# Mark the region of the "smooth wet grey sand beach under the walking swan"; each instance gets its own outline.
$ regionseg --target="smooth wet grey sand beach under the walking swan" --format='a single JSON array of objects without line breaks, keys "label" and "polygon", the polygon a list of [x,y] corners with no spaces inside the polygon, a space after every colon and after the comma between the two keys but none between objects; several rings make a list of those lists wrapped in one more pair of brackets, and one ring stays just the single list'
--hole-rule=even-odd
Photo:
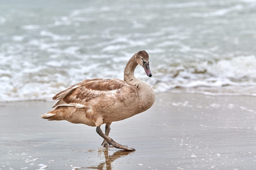
[{"label": "smooth wet grey sand beach under the walking swan", "polygon": [[54,102],[1,103],[0,170],[253,170],[255,103],[158,94],[146,112],[111,125],[109,136],[134,152],[101,148],[95,127],[40,119]]}]

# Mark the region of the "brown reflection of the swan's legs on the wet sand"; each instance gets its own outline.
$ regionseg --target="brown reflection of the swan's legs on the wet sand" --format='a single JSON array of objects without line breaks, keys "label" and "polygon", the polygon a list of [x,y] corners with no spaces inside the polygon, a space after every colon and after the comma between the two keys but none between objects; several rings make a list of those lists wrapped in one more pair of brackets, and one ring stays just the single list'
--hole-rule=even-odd
[{"label": "brown reflection of the swan's legs on the wet sand", "polygon": [[[99,151],[100,154],[104,152],[104,157],[106,159],[105,162],[100,163],[97,167],[87,167],[87,169],[97,169],[97,170],[112,170],[111,163],[120,157],[124,157],[129,155],[131,152],[134,151],[127,151],[127,150],[118,150],[117,152],[113,153],[112,155],[108,155],[108,149],[104,151]],[[105,166],[106,164],[106,166]],[[106,168],[104,168],[106,167]]]}]

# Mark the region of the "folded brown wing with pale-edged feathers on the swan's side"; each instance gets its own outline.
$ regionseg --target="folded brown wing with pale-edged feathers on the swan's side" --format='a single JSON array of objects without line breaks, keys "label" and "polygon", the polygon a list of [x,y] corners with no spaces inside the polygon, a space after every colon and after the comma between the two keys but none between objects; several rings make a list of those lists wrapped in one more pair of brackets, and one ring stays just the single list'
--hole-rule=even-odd
[{"label": "folded brown wing with pale-edged feathers on the swan's side", "polygon": [[59,100],[53,107],[75,106],[83,108],[86,102],[103,95],[115,96],[132,93],[136,87],[120,79],[87,79],[56,94],[52,99]]}]

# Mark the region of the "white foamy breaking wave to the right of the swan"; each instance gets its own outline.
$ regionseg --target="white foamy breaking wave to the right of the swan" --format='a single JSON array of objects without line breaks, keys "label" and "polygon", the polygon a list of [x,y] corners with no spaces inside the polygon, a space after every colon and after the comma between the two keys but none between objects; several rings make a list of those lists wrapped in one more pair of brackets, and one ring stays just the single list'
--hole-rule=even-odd
[{"label": "white foamy breaking wave to the right of the swan", "polygon": [[255,55],[162,65],[157,68],[154,87],[157,92],[255,95],[255,67]]}]

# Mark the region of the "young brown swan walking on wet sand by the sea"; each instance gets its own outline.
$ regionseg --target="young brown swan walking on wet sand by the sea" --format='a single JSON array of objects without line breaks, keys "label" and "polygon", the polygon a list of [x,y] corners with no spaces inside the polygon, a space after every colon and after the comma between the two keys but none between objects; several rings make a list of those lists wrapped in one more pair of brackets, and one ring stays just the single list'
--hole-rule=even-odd
[{"label": "young brown swan walking on wet sand by the sea", "polygon": [[[70,88],[56,94],[52,99],[58,102],[54,110],[41,115],[48,120],[67,120],[74,124],[96,126],[97,133],[103,137],[103,147],[111,145],[123,150],[135,150],[115,142],[108,137],[112,121],[120,121],[144,112],[155,102],[155,92],[146,82],[134,76],[134,70],[139,64],[149,77],[148,53],[135,53],[124,69],[124,80],[85,79]],[[106,124],[105,134],[101,125]]]}]

